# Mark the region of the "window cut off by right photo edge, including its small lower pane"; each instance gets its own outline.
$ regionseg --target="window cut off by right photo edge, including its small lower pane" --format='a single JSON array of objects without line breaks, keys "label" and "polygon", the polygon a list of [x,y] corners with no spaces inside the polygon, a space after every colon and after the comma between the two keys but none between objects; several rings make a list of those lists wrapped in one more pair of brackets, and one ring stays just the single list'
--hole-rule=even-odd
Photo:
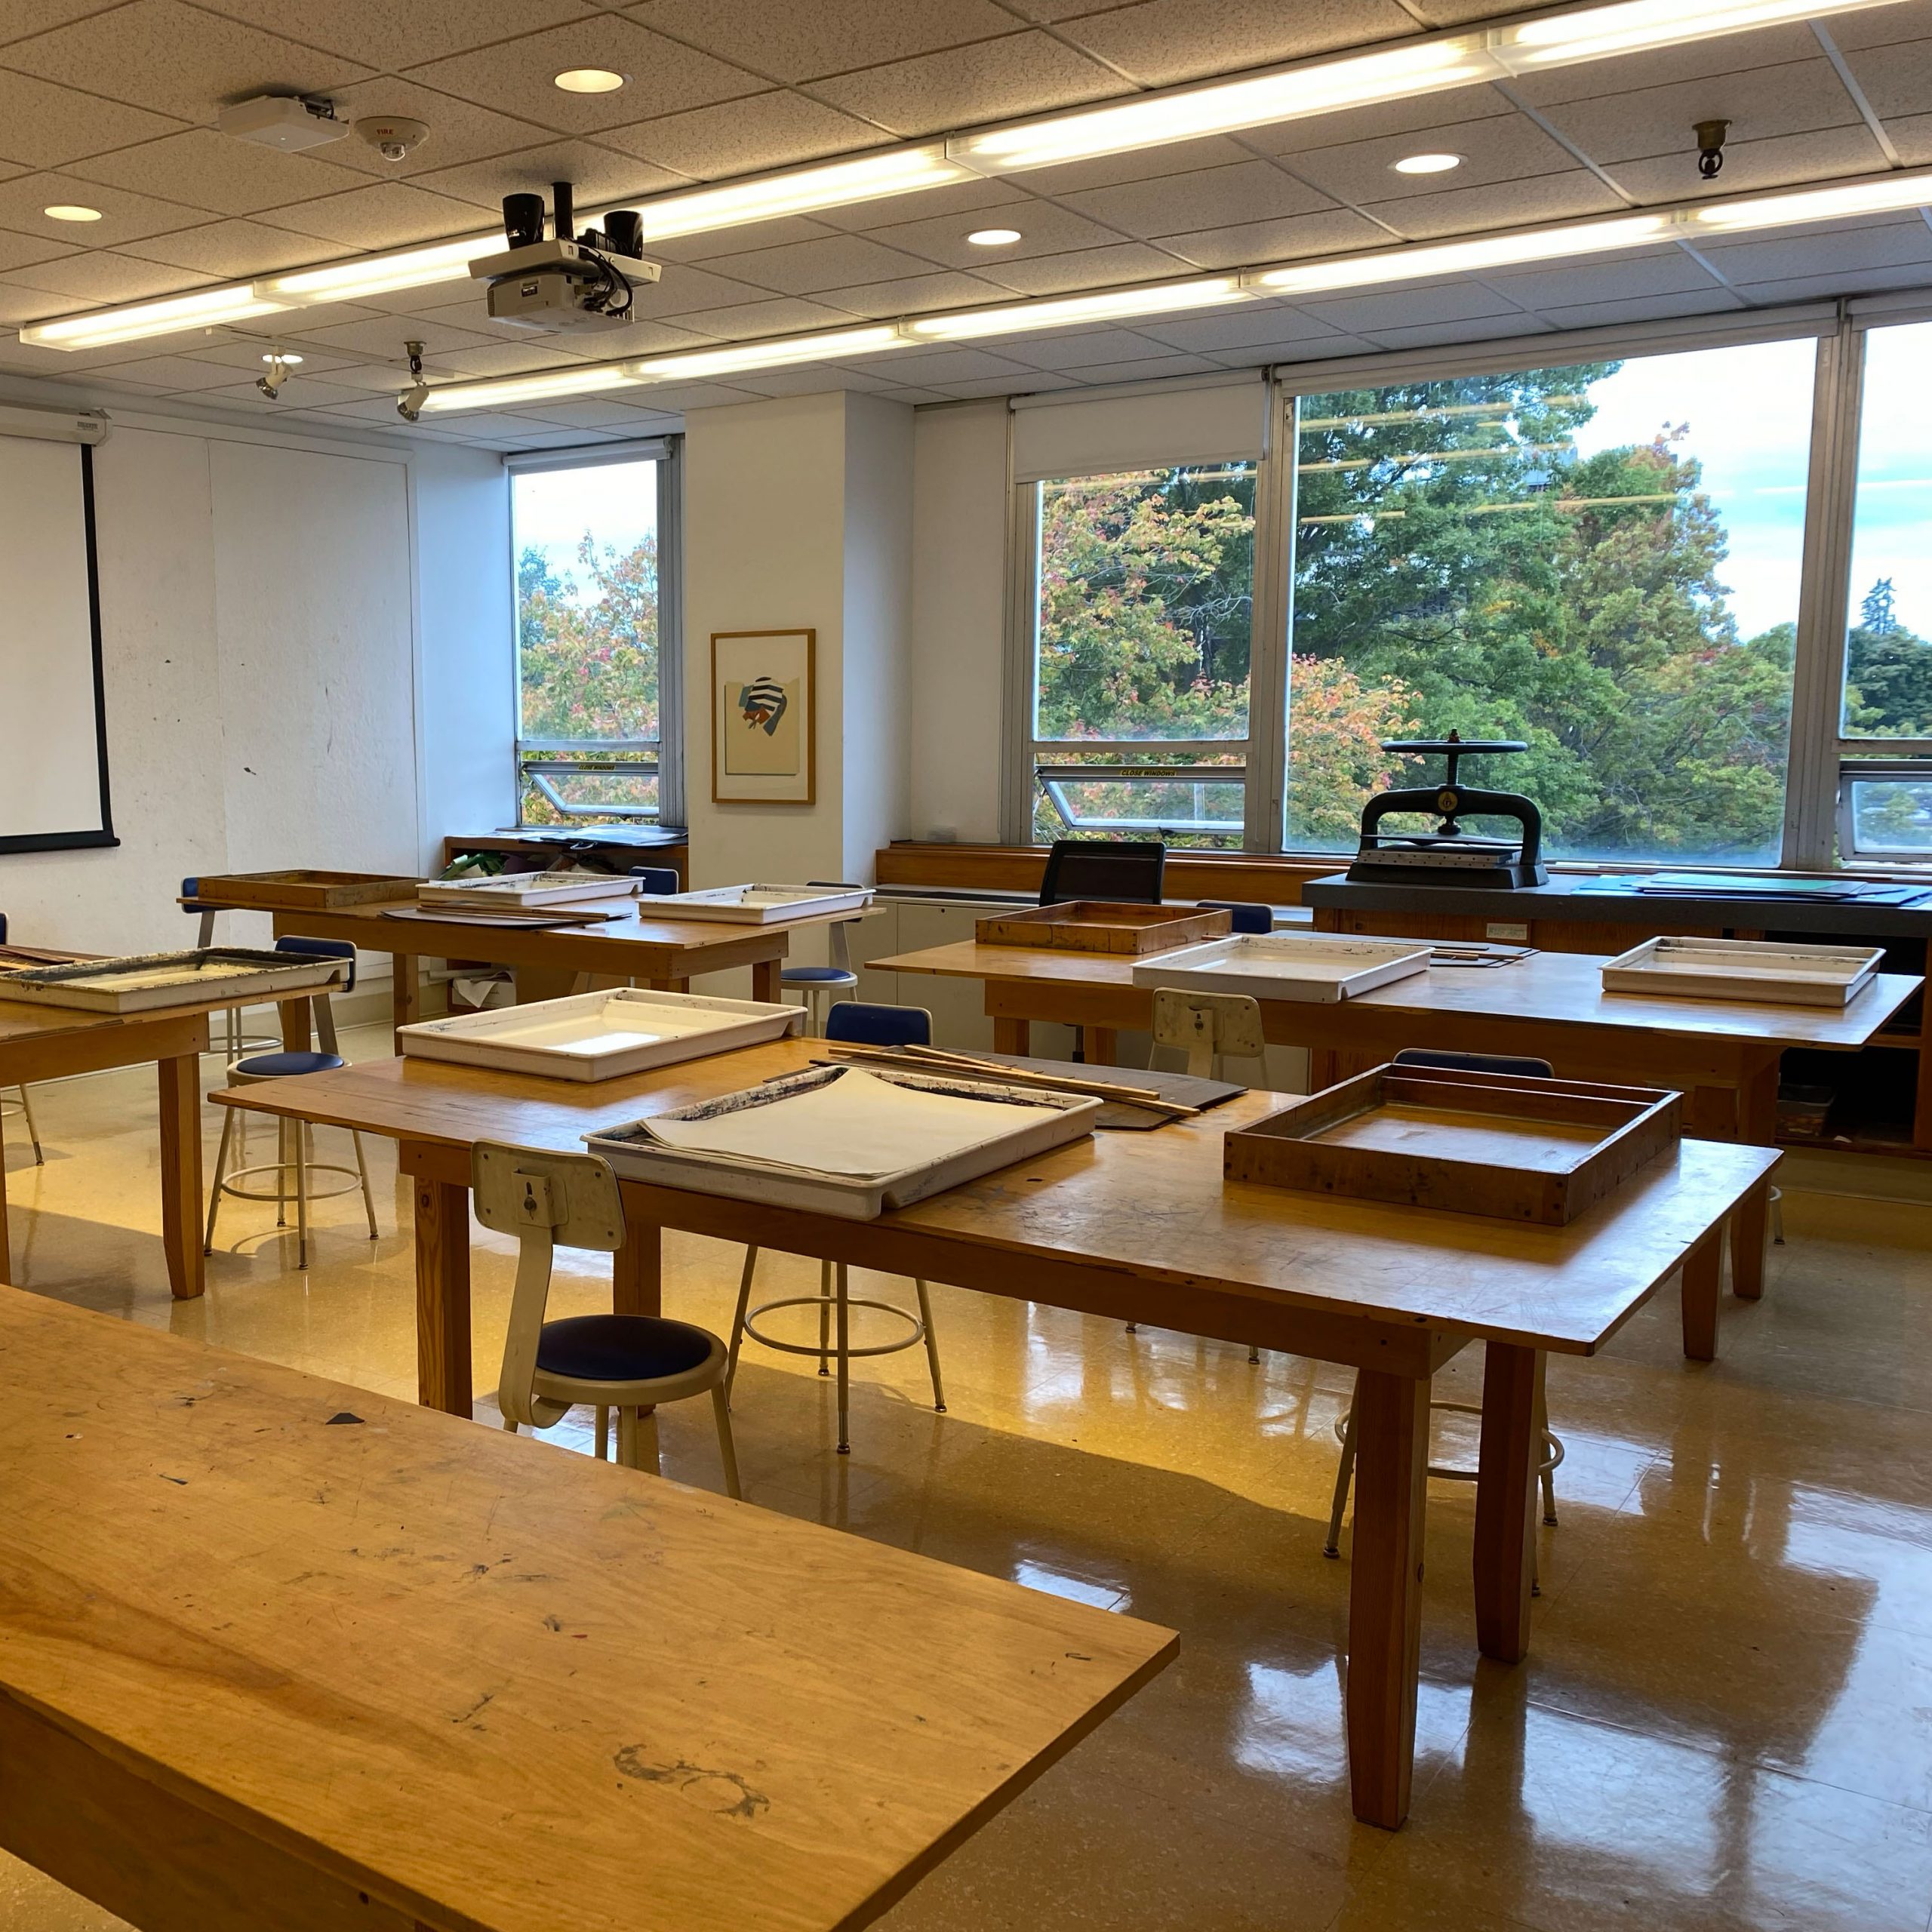
[{"label": "window cut off by right photo edge, including its small lower pane", "polygon": [[[1864,338],[1839,705],[1839,856],[1932,858],[1932,323]],[[1917,753],[1917,755],[1897,755]]]}]

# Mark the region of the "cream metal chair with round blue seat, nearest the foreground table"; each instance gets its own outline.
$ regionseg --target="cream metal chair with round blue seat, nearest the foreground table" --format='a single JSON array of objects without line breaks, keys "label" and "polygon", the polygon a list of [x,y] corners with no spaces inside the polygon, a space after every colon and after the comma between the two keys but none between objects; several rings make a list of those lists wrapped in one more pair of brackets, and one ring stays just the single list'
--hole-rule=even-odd
[{"label": "cream metal chair with round blue seat, nearest the foreground table", "polygon": [[616,1175],[595,1153],[549,1153],[481,1140],[469,1155],[477,1219],[516,1236],[516,1291],[502,1347],[502,1426],[554,1428],[578,1405],[597,1410],[597,1457],[611,1445],[626,1468],[657,1468],[657,1405],[711,1395],[724,1490],[738,1495],[724,1345],[709,1329],[659,1316],[570,1316],[545,1321],[558,1248],[624,1246]]}]

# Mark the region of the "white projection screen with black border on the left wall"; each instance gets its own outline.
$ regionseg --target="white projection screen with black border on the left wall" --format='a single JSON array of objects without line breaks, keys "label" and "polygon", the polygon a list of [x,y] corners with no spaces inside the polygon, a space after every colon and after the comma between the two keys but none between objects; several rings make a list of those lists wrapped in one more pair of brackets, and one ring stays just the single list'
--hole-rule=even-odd
[{"label": "white projection screen with black border on the left wall", "polygon": [[0,852],[118,844],[93,454],[0,437]]}]

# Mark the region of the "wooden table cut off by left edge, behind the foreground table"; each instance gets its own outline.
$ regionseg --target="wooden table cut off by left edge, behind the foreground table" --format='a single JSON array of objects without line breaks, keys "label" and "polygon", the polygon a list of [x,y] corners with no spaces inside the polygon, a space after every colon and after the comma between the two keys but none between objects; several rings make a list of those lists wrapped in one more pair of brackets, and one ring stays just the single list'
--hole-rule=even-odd
[{"label": "wooden table cut off by left edge, behind the foreground table", "polygon": [[[270,993],[292,1039],[307,1036],[313,989]],[[160,1113],[160,1240],[168,1287],[180,1298],[207,1285],[201,1256],[201,1055],[209,1051],[209,1014],[228,1003],[168,1007],[160,1012],[81,1012],[0,1001],[0,1086],[64,1080],[110,1066],[155,1063]],[[6,1175],[0,1171],[0,1281],[12,1281]]]}]

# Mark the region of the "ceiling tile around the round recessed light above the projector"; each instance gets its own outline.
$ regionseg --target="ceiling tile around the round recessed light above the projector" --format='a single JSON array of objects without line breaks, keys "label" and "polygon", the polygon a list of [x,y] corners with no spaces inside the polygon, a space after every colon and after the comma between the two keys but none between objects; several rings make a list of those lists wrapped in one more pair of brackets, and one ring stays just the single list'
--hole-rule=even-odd
[{"label": "ceiling tile around the round recessed light above the projector", "polygon": [[[566,68],[609,68],[630,79],[616,93],[568,95],[553,85],[553,75]],[[678,46],[614,14],[433,60],[412,68],[410,79],[570,133],[624,128],[763,89],[744,68]]]}]

